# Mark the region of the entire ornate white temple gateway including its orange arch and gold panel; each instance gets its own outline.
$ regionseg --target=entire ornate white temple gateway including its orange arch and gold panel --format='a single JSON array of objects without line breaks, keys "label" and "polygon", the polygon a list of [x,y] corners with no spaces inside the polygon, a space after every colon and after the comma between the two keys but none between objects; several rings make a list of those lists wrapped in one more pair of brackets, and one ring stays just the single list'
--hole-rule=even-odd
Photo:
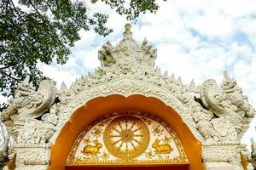
[{"label": "entire ornate white temple gateway including its orange arch and gold panel", "polygon": [[156,55],[127,24],[70,88],[44,80],[35,90],[27,77],[2,117],[16,169],[249,170],[241,137],[255,110],[235,79],[185,85],[154,67]]}]

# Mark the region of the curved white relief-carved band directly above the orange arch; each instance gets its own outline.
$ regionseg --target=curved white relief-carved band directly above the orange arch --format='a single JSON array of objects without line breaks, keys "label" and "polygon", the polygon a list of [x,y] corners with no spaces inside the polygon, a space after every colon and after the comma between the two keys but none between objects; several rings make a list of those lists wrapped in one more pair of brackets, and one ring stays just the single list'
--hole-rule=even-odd
[{"label": "curved white relief-carved band directly above the orange arch", "polygon": [[[61,111],[57,130],[51,140],[55,141],[57,135],[61,131],[61,127],[63,127],[69,117],[72,116],[73,112],[79,107],[86,104],[88,101],[90,101],[90,99],[113,94],[124,95],[125,97],[141,94],[143,96],[160,99],[166,105],[177,111],[178,115],[182,117],[183,122],[187,124],[191,132],[198,140],[201,142],[205,140],[195,129],[195,122],[193,121],[192,110],[190,107],[184,105],[180,99],[170,93],[170,91],[166,90],[166,88],[161,88],[159,86],[148,84],[147,82],[138,81],[129,77],[120,78],[119,80],[114,80],[113,82],[100,84],[96,87],[91,87],[89,89],[80,91],[79,94],[76,95],[76,98],[70,101],[70,103],[68,103],[68,105],[66,105]],[[191,98],[190,102],[195,103],[193,98]]]}]

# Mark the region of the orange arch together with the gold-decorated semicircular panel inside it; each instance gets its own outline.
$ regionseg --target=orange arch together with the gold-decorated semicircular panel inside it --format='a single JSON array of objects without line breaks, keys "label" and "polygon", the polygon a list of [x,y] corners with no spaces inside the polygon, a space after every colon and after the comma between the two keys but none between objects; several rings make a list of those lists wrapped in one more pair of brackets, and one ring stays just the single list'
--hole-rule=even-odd
[{"label": "orange arch together with the gold-decorated semicircular panel inside it", "polygon": [[51,157],[50,169],[202,169],[201,144],[182,119],[142,95],[92,99],[63,127]]}]

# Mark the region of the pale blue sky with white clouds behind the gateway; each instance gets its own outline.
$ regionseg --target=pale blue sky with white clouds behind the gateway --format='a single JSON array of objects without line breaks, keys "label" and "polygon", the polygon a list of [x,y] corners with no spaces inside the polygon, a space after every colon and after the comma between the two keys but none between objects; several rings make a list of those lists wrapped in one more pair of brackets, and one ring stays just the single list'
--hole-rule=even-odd
[{"label": "pale blue sky with white clouds behind the gateway", "polygon": [[[256,1],[255,0],[167,0],[158,1],[156,14],[143,14],[132,23],[133,37],[142,42],[147,37],[158,49],[155,65],[181,77],[184,83],[196,84],[214,78],[218,83],[228,71],[249,103],[256,108]],[[72,48],[67,64],[40,64],[44,76],[70,86],[76,78],[100,66],[97,51],[106,41],[119,42],[127,20],[105,4],[88,4],[91,13],[109,14],[108,37],[94,31],[80,31],[81,39]],[[256,136],[256,119],[242,139]]]}]

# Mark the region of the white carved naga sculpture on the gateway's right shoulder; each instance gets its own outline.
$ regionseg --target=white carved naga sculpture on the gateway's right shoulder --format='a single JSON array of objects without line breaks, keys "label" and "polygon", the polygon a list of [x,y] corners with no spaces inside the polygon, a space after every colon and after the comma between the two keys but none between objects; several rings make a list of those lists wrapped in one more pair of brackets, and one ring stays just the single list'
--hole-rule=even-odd
[{"label": "white carved naga sculpture on the gateway's right shoulder", "polygon": [[248,104],[247,96],[242,94],[234,79],[224,71],[224,81],[220,88],[215,80],[210,79],[201,86],[202,104],[218,117],[227,117],[241,138],[247,124],[253,118],[255,111]]}]

